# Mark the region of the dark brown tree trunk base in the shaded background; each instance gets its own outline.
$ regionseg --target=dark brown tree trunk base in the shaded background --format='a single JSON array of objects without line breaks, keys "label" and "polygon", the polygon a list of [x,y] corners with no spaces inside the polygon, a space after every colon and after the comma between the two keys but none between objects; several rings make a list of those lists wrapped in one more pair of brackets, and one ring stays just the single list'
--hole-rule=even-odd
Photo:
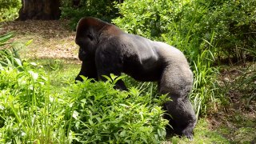
[{"label": "dark brown tree trunk base in the shaded background", "polygon": [[52,20],[61,15],[60,0],[22,0],[18,20],[27,19]]}]

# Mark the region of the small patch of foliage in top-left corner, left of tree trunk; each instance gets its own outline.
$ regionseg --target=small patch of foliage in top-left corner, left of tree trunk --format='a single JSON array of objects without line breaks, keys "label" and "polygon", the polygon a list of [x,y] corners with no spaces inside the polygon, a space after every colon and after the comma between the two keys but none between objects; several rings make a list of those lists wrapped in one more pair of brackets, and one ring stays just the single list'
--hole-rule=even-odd
[{"label": "small patch of foliage in top-left corner, left of tree trunk", "polygon": [[0,0],[0,22],[14,20],[22,7],[21,0]]}]

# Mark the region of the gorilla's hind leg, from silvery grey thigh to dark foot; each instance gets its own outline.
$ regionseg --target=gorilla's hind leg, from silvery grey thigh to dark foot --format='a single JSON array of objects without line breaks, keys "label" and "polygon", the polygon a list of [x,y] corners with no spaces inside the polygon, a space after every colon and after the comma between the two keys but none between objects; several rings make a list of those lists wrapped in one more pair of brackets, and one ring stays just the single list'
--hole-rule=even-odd
[{"label": "gorilla's hind leg, from silvery grey thigh to dark foot", "polygon": [[161,94],[168,94],[171,101],[164,103],[164,110],[170,114],[168,119],[174,134],[193,138],[197,118],[187,98],[193,84],[193,74],[188,66],[166,66],[159,88]]}]

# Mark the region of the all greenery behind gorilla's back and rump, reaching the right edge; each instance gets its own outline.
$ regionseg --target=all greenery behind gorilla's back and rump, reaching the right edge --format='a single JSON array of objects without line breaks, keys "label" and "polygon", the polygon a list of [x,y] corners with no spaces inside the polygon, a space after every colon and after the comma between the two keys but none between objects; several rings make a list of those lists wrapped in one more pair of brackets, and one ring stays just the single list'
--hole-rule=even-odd
[{"label": "all greenery behind gorilla's back and rump, reaching the right edge", "polygon": [[255,56],[256,1],[126,0],[113,22],[132,34],[167,42],[186,54],[194,72],[190,98],[197,114],[225,103],[216,81],[222,58]]}]

